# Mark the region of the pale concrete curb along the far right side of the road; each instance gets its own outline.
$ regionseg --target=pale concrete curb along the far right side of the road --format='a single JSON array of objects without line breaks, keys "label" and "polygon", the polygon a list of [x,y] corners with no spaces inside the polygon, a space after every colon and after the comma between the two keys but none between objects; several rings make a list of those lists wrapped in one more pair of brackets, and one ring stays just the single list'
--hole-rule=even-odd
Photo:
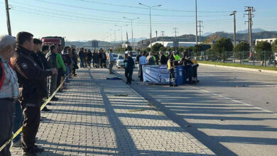
[{"label": "pale concrete curb along the far right side of the road", "polygon": [[205,64],[205,63],[199,63],[199,65],[208,66],[208,67],[222,67],[222,68],[227,68],[227,69],[239,69],[239,70],[256,72],[256,73],[264,72],[264,73],[268,73],[268,74],[277,74],[277,71],[265,70],[265,69],[251,69],[251,68],[245,68],[245,67],[230,67],[230,66],[224,66],[224,65],[210,65],[210,64]]}]

